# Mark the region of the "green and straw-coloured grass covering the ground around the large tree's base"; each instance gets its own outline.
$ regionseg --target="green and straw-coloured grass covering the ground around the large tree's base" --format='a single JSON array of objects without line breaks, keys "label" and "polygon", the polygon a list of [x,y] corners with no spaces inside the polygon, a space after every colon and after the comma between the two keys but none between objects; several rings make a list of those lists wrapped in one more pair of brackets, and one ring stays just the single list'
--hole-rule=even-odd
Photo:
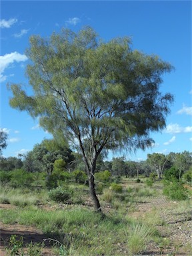
[{"label": "green and straw-coloured grass covering the ground around the large tree's base", "polygon": [[[129,187],[128,187],[129,186]],[[3,223],[33,225],[52,238],[55,255],[134,255],[145,251],[149,241],[153,239],[156,244],[165,241],[161,239],[155,229],[156,225],[164,225],[158,207],[153,207],[143,215],[135,215],[138,203],[149,203],[157,193],[156,184],[153,188],[143,183],[127,183],[122,193],[117,193],[109,188],[103,189],[99,195],[101,205],[105,205],[106,217],[93,212],[90,207],[81,203],[89,200],[89,188],[85,185],[69,185],[74,190],[71,205],[54,202],[54,211],[49,210],[49,201],[46,190],[25,191],[20,189],[1,188],[0,203],[8,202],[17,205],[11,209],[0,209],[0,219]],[[161,191],[160,191],[161,192]],[[43,203],[46,209],[40,209]],[[181,201],[175,205],[176,213],[191,213],[191,203]],[[133,217],[130,217],[133,215]],[[155,216],[155,217],[154,217]],[[55,240],[55,241],[53,241]],[[156,242],[157,241],[157,242]],[[168,240],[166,240],[167,242]],[[157,245],[158,246],[158,245]],[[190,251],[190,248],[186,248]],[[81,253],[79,253],[81,252]],[[190,251],[191,252],[191,251]]]}]

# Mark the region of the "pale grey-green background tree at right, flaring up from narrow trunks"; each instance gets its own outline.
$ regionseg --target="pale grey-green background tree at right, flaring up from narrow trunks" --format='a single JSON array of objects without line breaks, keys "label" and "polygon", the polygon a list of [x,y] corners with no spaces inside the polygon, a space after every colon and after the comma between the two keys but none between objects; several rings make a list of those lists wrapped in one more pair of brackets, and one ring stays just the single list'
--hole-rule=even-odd
[{"label": "pale grey-green background tree at right, flaring up from narrow trunks", "polygon": [[147,155],[147,162],[149,165],[151,165],[151,168],[155,169],[157,172],[158,179],[162,178],[165,165],[168,161],[169,159],[161,153],[153,153]]}]

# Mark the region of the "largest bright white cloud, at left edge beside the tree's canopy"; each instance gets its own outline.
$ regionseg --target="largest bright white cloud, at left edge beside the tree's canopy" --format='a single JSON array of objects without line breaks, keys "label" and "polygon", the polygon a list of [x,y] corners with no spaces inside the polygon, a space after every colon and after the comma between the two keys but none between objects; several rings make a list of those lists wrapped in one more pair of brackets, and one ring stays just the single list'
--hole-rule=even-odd
[{"label": "largest bright white cloud, at left edge beside the tree's canopy", "polygon": [[17,53],[17,51],[15,51],[14,53],[7,53],[3,56],[0,56],[0,82],[3,82],[7,79],[7,76],[3,75],[3,72],[15,61],[27,61],[27,56],[21,53]]}]

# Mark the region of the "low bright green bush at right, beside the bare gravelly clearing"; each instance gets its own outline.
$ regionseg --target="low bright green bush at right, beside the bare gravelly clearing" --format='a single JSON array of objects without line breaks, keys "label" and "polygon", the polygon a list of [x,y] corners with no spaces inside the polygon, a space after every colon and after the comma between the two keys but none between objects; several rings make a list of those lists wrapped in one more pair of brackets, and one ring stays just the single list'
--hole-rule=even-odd
[{"label": "low bright green bush at right, beside the bare gravelly clearing", "polygon": [[165,187],[163,189],[163,194],[167,195],[172,200],[185,200],[187,199],[187,191],[183,187],[182,183],[177,181],[165,181]]}]

